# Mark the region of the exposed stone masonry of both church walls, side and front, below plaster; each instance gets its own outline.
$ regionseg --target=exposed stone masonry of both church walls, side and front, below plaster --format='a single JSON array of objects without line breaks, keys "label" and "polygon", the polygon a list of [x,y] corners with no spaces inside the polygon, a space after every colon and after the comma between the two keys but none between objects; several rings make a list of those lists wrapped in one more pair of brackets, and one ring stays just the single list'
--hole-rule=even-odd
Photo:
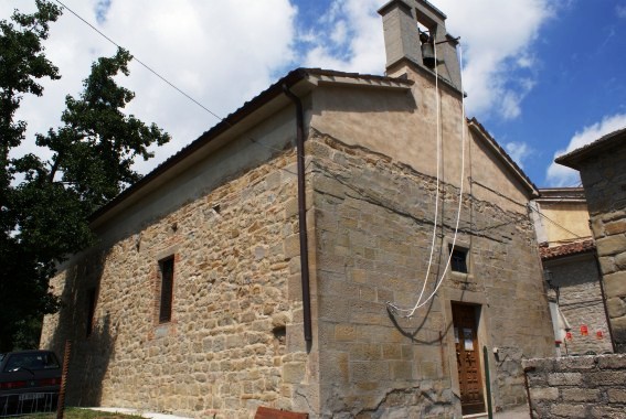
[{"label": "exposed stone masonry of both church walls, side and front, below plaster", "polygon": [[[526,401],[520,359],[548,356],[553,342],[523,203],[505,211],[468,184],[457,244],[469,250],[470,272],[444,273],[459,191],[442,183],[426,296],[444,282],[405,319],[386,303],[410,307],[420,293],[436,180],[315,130],[306,155],[311,347],[289,149],[64,267],[54,287],[66,305],[46,319],[42,345],[61,353],[75,342],[71,405],[199,418],[247,418],[261,405],[311,418],[460,415],[453,301],[477,308],[495,408]],[[171,256],[173,314],[160,323],[159,261]]]}]

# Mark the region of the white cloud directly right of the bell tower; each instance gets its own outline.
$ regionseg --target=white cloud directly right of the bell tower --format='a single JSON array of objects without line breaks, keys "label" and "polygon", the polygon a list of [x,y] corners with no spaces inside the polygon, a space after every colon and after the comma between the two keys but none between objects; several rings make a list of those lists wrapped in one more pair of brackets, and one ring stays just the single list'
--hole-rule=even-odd
[{"label": "white cloud directly right of the bell tower", "polygon": [[526,71],[524,78],[535,77],[531,47],[541,26],[553,15],[553,3],[437,0],[437,7],[448,17],[448,32],[461,36],[464,89],[471,114],[505,119],[520,115],[520,103],[534,83],[520,85],[516,72]]}]

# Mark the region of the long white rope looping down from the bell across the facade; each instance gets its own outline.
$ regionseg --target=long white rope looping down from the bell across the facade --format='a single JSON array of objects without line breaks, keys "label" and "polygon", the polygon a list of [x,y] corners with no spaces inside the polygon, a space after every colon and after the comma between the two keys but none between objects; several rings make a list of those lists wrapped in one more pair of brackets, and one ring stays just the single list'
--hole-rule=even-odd
[{"label": "long white rope looping down from the bell across the facade", "polygon": [[[463,47],[460,46],[459,43],[459,67],[463,68]],[[435,75],[436,73],[436,58],[437,57],[437,53],[436,53],[436,47],[435,47]],[[438,78],[438,77],[437,77]],[[435,82],[435,86],[437,86],[437,83]],[[465,184],[465,95],[463,93],[463,78],[460,82],[460,108],[461,108],[461,123],[460,123],[460,185],[459,185],[459,192],[458,192],[458,211],[457,211],[457,216],[456,216],[456,225],[455,225],[455,229],[454,229],[454,236],[453,236],[453,244],[452,244],[452,248],[454,249],[455,245],[456,245],[456,239],[458,236],[458,225],[460,223],[460,211],[461,211],[461,206],[463,206],[463,189],[464,189],[464,184]],[[438,95],[437,95],[437,99],[438,99]],[[437,119],[438,119],[439,115],[437,112]],[[437,132],[438,132],[438,121],[437,121]],[[437,143],[437,192],[438,192],[438,168],[439,168],[439,162],[438,162],[438,143]],[[438,196],[438,194],[437,194]],[[435,205],[435,207],[437,207],[437,205]],[[435,228],[436,228],[436,215],[435,215]],[[434,237],[433,237],[433,243],[434,243]],[[434,245],[433,245],[434,248]],[[433,256],[433,250],[431,249],[431,257]],[[413,307],[413,309],[409,310],[409,309],[400,309],[399,307],[396,307],[395,304],[392,303],[388,303],[388,307],[390,307],[392,310],[394,310],[397,313],[402,313],[405,312],[407,314],[404,314],[404,318],[411,319],[413,316],[413,314],[415,314],[415,311],[417,311],[417,309],[426,305],[426,303],[432,300],[435,294],[437,293],[437,291],[439,290],[439,287],[442,286],[442,283],[444,282],[444,278],[449,269],[449,265],[450,265],[450,260],[452,260],[452,256],[453,253],[449,251],[447,261],[446,261],[446,266],[444,268],[444,272],[442,273],[441,278],[437,280],[437,283],[435,286],[435,290],[428,296],[428,298],[426,298],[426,300],[422,301],[422,297],[424,293],[424,289],[426,288],[426,282],[424,281],[424,286],[422,287],[422,292],[420,293],[420,298],[417,299],[417,302],[415,303],[415,305]],[[431,269],[431,264],[428,262],[428,271]],[[426,272],[426,280],[427,280],[427,275],[428,271]]]}]

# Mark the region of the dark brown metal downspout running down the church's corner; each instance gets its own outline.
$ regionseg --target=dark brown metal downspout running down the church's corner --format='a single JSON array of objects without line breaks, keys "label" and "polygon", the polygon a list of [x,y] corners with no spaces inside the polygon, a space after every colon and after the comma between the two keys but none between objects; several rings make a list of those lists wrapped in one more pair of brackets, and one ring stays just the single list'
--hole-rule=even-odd
[{"label": "dark brown metal downspout running down the church's corner", "polygon": [[303,103],[287,85],[283,92],[296,105],[296,161],[298,166],[298,227],[300,233],[300,272],[303,283],[303,322],[305,341],[310,345],[311,333],[311,296],[309,288],[309,246],[307,237],[307,202],[305,185],[305,116]]}]

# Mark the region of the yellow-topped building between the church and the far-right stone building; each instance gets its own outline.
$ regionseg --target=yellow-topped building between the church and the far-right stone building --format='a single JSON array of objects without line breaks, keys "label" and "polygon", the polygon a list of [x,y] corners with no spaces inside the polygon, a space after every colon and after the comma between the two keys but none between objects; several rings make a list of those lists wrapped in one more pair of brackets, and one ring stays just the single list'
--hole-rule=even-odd
[{"label": "yellow-topped building between the church and the far-right stone building", "polygon": [[531,203],[556,355],[612,352],[606,304],[582,187],[540,189]]}]

